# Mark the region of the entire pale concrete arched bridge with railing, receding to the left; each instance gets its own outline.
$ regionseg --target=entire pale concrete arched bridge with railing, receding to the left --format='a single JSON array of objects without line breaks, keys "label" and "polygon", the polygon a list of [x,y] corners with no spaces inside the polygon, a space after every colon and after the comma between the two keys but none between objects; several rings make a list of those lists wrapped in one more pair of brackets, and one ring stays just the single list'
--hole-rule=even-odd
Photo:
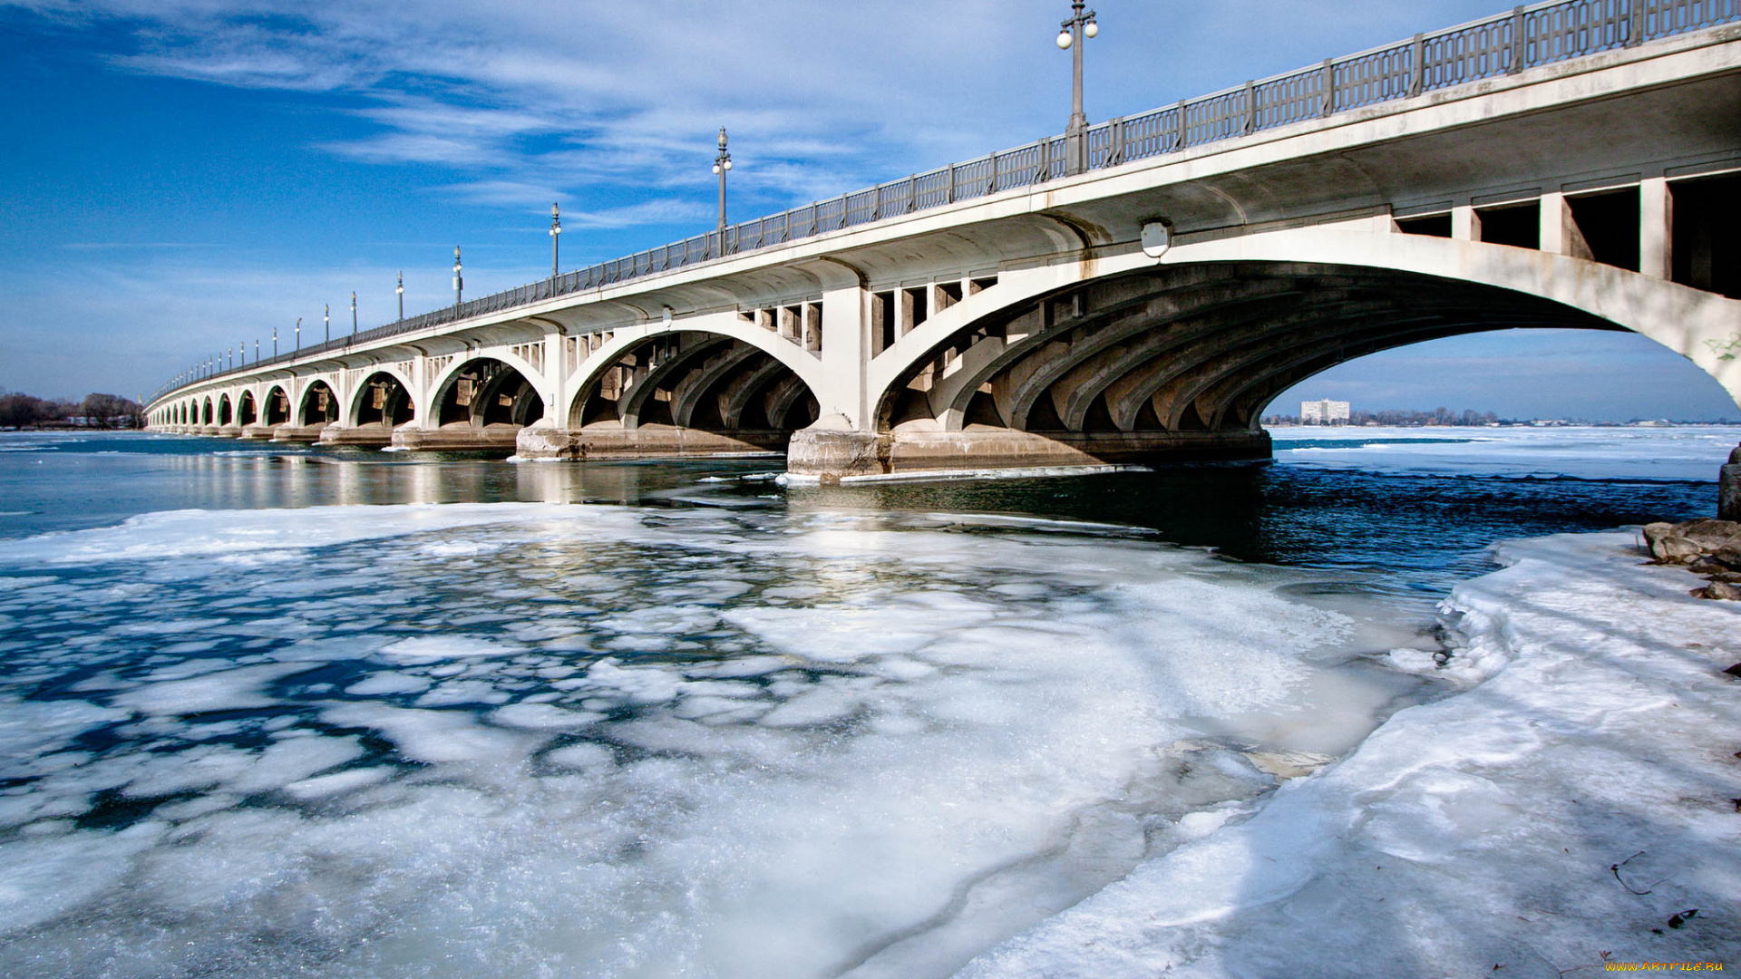
[{"label": "entire pale concrete arched bridge with railing, receding to the left", "polygon": [[1039,141],[179,383],[150,423],[820,477],[1250,458],[1299,380],[1509,327],[1637,331],[1741,402],[1736,21],[1532,7],[1102,124],[1081,172]]}]

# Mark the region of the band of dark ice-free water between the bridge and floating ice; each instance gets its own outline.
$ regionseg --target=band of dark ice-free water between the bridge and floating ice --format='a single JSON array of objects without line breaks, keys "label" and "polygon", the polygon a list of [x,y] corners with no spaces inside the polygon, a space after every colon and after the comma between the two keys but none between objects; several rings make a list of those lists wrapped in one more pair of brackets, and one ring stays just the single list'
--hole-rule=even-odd
[{"label": "band of dark ice-free water between the bridge and floating ice", "polygon": [[[1468,439],[1405,435],[1408,444]],[[1713,439],[1715,476],[1724,437]],[[963,483],[794,486],[780,456],[517,465],[500,456],[378,453],[136,434],[0,434],[0,540],[158,510],[353,503],[564,502],[1020,514],[1153,530],[1229,557],[1395,575],[1443,592],[1496,540],[1600,531],[1715,510],[1713,479],[1382,470],[1398,439],[1278,437],[1278,449],[1372,444],[1381,470],[1287,462]],[[31,451],[33,448],[47,451]],[[1288,455],[1283,451],[1283,455]],[[1598,453],[1600,455],[1600,453]],[[1583,467],[1588,469],[1588,463]],[[1600,470],[1600,462],[1596,463]],[[750,476],[750,481],[740,477]]]}]

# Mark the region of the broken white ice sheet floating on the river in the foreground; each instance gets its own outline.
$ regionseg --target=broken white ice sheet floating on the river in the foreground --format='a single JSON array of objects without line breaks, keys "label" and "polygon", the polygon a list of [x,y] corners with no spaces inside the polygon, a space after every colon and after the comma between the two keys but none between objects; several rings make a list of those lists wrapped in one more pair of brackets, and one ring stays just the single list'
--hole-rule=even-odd
[{"label": "broken white ice sheet floating on the river in the foreground", "polygon": [[1321,761],[1257,732],[1361,732],[1400,690],[1327,665],[1360,650],[1290,598],[1313,575],[1057,521],[343,507],[23,544],[7,976],[947,976]]}]

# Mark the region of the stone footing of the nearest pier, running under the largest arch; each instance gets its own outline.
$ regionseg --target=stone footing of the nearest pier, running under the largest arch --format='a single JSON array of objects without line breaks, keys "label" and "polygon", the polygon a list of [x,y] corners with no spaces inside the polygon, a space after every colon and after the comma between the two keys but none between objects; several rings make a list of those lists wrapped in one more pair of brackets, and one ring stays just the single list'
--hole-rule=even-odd
[{"label": "stone footing of the nearest pier, running under the largest arch", "polygon": [[[935,425],[930,423],[930,425]],[[1018,432],[968,425],[944,432],[924,423],[893,432],[804,429],[792,434],[787,472],[836,481],[853,476],[1149,465],[1269,458],[1269,432]]]}]

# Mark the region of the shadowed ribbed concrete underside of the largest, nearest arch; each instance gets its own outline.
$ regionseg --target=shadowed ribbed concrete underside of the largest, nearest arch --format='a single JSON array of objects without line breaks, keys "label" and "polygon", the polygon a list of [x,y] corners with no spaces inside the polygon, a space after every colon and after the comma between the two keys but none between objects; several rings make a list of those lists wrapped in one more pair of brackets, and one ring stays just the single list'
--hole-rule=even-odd
[{"label": "shadowed ribbed concrete underside of the largest, nearest arch", "polygon": [[1170,265],[1001,310],[928,350],[877,430],[1257,432],[1266,404],[1379,350],[1513,327],[1623,329],[1494,286],[1313,263]]}]

